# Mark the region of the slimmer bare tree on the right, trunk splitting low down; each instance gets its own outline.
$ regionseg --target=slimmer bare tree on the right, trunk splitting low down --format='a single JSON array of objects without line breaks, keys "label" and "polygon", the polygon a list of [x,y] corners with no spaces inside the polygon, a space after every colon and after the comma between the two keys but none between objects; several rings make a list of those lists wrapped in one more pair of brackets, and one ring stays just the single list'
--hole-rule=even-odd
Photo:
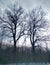
[{"label": "slimmer bare tree on the right, trunk splitting low down", "polygon": [[43,29],[46,25],[46,20],[45,20],[45,12],[43,9],[40,8],[35,8],[31,11],[29,14],[29,30],[28,33],[30,35],[30,42],[33,48],[33,51],[35,51],[35,44],[36,42],[40,39],[39,32],[41,29]]}]

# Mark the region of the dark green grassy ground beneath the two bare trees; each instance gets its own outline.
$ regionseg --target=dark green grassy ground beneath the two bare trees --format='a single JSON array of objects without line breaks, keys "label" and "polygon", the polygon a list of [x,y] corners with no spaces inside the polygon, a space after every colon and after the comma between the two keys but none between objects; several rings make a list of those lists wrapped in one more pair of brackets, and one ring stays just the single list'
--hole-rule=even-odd
[{"label": "dark green grassy ground beneath the two bare trees", "polygon": [[23,48],[16,48],[15,52],[13,51],[13,47],[5,50],[0,49],[0,64],[23,62],[50,62],[50,53],[40,53],[40,51],[33,53],[30,48],[26,48],[25,50]]}]

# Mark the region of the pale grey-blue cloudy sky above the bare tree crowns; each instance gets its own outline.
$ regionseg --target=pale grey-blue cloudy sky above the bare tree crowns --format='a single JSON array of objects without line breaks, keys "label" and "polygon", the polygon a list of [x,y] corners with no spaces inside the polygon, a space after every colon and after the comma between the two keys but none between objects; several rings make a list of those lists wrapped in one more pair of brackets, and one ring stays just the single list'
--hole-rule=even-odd
[{"label": "pale grey-blue cloudy sky above the bare tree crowns", "polygon": [[[0,8],[5,8],[14,1],[15,0],[0,0]],[[47,13],[47,18],[50,20],[50,0],[18,0],[17,2],[27,10],[31,10],[37,6],[42,6]]]}]

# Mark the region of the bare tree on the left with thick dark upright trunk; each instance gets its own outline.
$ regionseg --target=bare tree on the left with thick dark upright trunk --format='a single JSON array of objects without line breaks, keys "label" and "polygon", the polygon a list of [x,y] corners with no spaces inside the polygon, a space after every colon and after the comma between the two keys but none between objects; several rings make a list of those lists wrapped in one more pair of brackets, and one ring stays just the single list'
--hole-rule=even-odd
[{"label": "bare tree on the left with thick dark upright trunk", "polygon": [[21,36],[24,35],[25,25],[23,25],[23,8],[14,4],[11,8],[6,9],[5,15],[0,16],[2,27],[5,28],[5,36],[13,38],[14,49],[16,49],[16,43]]}]

